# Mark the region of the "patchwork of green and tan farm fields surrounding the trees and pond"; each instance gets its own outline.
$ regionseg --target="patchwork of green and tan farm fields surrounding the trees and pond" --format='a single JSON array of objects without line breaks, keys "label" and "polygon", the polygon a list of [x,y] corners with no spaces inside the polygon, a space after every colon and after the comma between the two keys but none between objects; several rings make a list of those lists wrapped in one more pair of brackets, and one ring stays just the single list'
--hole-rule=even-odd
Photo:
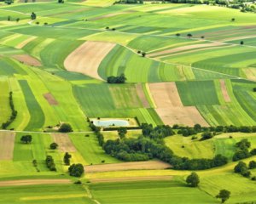
[{"label": "patchwork of green and tan farm fields surrounding the trees and pond", "polygon": [[[163,139],[177,156],[228,158],[222,167],[196,171],[199,188],[189,188],[191,171],[107,155],[86,121],[256,126],[256,15],[189,3],[113,3],[0,2],[0,125],[12,116],[9,92],[18,112],[0,131],[0,203],[205,204],[219,203],[222,189],[231,192],[227,203],[256,202],[255,181],[234,173],[232,161],[241,139],[256,148],[255,133]],[[122,73],[125,84],[106,82]],[[63,122],[73,133],[55,133]],[[32,143],[22,144],[27,134]],[[119,139],[116,130],[102,134],[105,142]],[[125,137],[141,135],[129,130]],[[53,142],[56,150],[49,148]],[[66,152],[71,164],[83,164],[81,178],[68,175]],[[46,167],[46,156],[56,172]],[[252,160],[256,156],[242,161]],[[73,184],[78,180],[82,184]]]}]

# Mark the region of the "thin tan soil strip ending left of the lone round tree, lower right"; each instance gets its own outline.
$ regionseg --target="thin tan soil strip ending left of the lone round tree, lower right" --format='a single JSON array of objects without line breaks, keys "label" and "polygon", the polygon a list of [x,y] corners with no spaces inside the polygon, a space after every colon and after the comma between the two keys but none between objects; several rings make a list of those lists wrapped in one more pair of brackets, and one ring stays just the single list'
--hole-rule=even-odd
[{"label": "thin tan soil strip ending left of the lone round tree, lower right", "polygon": [[114,183],[129,181],[147,181],[147,180],[171,180],[172,176],[143,176],[143,177],[122,177],[122,178],[92,178],[91,183]]}]

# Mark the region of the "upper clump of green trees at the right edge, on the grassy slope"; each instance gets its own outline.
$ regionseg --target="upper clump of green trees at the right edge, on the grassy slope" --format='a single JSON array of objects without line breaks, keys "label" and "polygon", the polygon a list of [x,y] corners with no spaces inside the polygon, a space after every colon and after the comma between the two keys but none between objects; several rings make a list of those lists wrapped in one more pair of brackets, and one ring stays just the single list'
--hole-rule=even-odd
[{"label": "upper clump of green trees at the right edge, on the grassy slope", "polygon": [[248,141],[248,139],[241,139],[240,142],[236,143],[236,152],[232,160],[238,161],[256,155],[256,149],[249,151],[248,149],[250,147],[251,143]]}]

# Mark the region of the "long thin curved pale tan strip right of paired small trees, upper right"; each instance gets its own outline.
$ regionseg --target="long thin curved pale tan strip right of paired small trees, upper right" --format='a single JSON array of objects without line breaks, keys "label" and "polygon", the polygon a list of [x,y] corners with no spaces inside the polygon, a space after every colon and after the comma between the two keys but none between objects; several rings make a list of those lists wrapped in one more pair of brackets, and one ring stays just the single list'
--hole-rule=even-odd
[{"label": "long thin curved pale tan strip right of paired small trees, upper right", "polygon": [[220,46],[220,45],[224,45],[224,42],[211,42],[211,43],[204,43],[204,44],[186,45],[183,47],[166,49],[166,50],[156,52],[153,54],[148,54],[148,57],[156,57],[156,56],[165,55],[165,54],[173,54],[173,53],[177,53],[177,52],[182,52],[182,51],[186,51],[189,49],[209,48],[209,47],[215,47],[215,46]]}]

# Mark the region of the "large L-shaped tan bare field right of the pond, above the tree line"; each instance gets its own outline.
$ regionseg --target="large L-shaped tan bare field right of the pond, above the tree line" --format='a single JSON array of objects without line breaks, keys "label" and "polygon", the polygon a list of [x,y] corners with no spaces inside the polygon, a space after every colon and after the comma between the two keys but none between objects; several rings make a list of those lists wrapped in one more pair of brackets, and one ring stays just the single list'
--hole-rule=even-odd
[{"label": "large L-shaped tan bare field right of the pond, above the tree line", "polygon": [[155,111],[166,125],[209,126],[195,106],[183,106],[175,82],[151,83],[149,88],[157,106]]}]

